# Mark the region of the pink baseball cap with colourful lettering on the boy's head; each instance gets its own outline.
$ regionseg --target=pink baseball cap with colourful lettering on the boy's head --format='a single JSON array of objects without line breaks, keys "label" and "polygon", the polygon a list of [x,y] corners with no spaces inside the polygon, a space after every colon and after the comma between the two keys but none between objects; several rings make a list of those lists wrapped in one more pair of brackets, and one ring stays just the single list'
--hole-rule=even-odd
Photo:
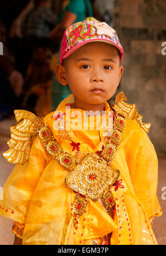
[{"label": "pink baseball cap with colourful lettering on the boy's head", "polygon": [[99,22],[93,17],[88,17],[85,21],[72,24],[64,32],[60,49],[60,64],[63,64],[63,60],[79,47],[94,41],[110,43],[115,46],[120,53],[120,62],[122,61],[123,47],[115,30],[106,22]]}]

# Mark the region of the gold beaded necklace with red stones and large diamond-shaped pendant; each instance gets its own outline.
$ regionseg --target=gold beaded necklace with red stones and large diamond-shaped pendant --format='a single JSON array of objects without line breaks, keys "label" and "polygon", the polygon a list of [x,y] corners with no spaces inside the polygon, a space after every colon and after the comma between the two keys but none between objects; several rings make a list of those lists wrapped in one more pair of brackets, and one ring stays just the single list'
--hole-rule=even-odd
[{"label": "gold beaded necklace with red stones and large diamond-shaped pendant", "polygon": [[[113,216],[115,199],[111,186],[118,180],[120,171],[110,166],[110,163],[116,156],[125,127],[126,117],[116,114],[112,135],[108,137],[101,154],[94,152],[85,155],[81,152],[81,161],[63,150],[46,124],[39,130],[39,137],[49,154],[70,171],[65,184],[77,193],[74,202],[74,225],[77,218],[84,213],[88,199],[97,201],[101,198],[107,213]],[[66,137],[71,141],[69,135]]]}]

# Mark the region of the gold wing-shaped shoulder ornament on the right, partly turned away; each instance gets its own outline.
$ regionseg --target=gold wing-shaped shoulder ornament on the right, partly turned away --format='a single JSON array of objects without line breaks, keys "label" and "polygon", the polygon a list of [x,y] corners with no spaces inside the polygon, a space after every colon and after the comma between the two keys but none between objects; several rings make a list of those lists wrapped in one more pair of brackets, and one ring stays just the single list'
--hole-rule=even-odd
[{"label": "gold wing-shaped shoulder ornament on the right, partly turned away", "polygon": [[151,127],[150,123],[143,123],[142,122],[142,115],[138,114],[138,110],[136,109],[135,104],[128,104],[127,98],[125,97],[123,91],[118,93],[115,104],[113,105],[113,110],[115,110],[118,114],[133,119],[137,122],[137,124],[146,132],[149,132]]}]

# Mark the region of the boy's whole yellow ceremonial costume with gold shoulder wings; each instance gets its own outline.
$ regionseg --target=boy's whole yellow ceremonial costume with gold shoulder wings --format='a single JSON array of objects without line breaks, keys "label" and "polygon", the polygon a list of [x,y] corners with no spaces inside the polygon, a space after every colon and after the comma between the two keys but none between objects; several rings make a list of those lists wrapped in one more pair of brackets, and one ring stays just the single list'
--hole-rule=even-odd
[{"label": "boy's whole yellow ceremonial costume with gold shoulder wings", "polygon": [[[71,170],[66,169],[61,164],[62,160],[54,157],[53,151],[56,144],[50,144],[49,147],[49,144],[44,142],[46,133],[45,131],[43,135],[40,133],[41,119],[35,119],[34,116],[31,116],[27,117],[27,120],[31,118],[30,121],[27,121],[24,117],[24,124],[27,124],[27,127],[31,125],[30,131],[28,133],[27,129],[25,136],[26,127],[23,123],[22,128],[19,127],[19,131],[22,129],[27,142],[26,140],[19,142],[19,146],[15,144],[12,154],[16,151],[17,154],[15,153],[13,158],[9,151],[3,154],[8,161],[12,163],[15,161],[17,165],[4,185],[4,199],[0,201],[1,215],[24,224],[23,245],[108,244],[105,236],[110,233],[111,245],[157,244],[151,225],[154,216],[162,214],[156,195],[157,156],[146,133],[149,129],[148,124],[142,123],[141,116],[138,115],[135,106],[126,104],[124,99],[126,99],[125,96],[120,93],[112,109],[105,102],[106,112],[112,111],[115,116],[113,125],[117,120],[117,114],[119,117],[125,116],[126,118],[126,127],[123,129],[120,144],[115,151],[112,151],[115,144],[112,144],[111,150],[110,148],[108,150],[109,154],[114,152],[114,157],[109,162],[111,170],[120,170],[120,176],[116,181],[112,181],[113,184],[107,192],[112,193],[113,196],[110,195],[108,198],[110,204],[112,200],[115,200],[113,215],[108,214],[106,205],[103,205],[100,199],[94,199],[96,196],[94,190],[92,191],[94,194],[91,193],[91,196],[85,198],[71,189],[73,184],[70,183],[69,173],[70,171],[72,175],[77,173],[73,173],[72,168]],[[70,95],[61,102],[56,111],[66,113],[66,106],[72,102],[73,96]],[[71,114],[74,110],[71,109]],[[80,111],[84,114],[83,110]],[[59,118],[60,115],[55,116],[54,113],[51,113],[44,118],[44,124],[53,135],[50,138],[55,138],[64,150],[61,154],[69,153],[76,157],[76,163],[80,163],[87,153],[90,153],[87,155],[90,157],[88,159],[92,159],[91,154],[95,155],[94,152],[97,151],[102,152],[103,146],[106,145],[104,129],[100,129],[100,131],[74,130],[71,126],[71,130],[63,132],[63,130],[55,129],[55,121]],[[18,117],[18,120],[20,119]],[[74,117],[71,117],[71,120],[73,121]],[[92,117],[90,116],[87,121],[89,126],[91,121]],[[120,119],[120,124],[122,123]],[[14,132],[12,129],[11,131]],[[30,132],[32,145],[28,144]],[[115,137],[117,134],[118,130]],[[41,139],[42,136],[43,139]],[[12,139],[14,140],[14,138],[13,135]],[[11,144],[8,143],[10,147],[12,147]],[[29,156],[28,146],[30,147]],[[26,154],[23,154],[24,147],[27,149],[27,159],[25,158]],[[106,147],[104,150],[106,151]],[[18,155],[19,151],[22,151],[20,155]],[[66,161],[66,166],[69,164],[69,158],[67,155],[65,159],[63,158]],[[86,164],[90,163],[85,161],[85,168]],[[107,168],[104,163],[103,168]],[[92,170],[95,173],[93,164]],[[94,173],[91,173],[89,179],[95,180],[97,171],[95,175]],[[105,176],[104,173],[103,176]],[[79,179],[76,182],[81,184]],[[100,180],[97,184],[99,183]],[[105,183],[107,183],[107,179]],[[96,186],[97,189],[98,186]],[[80,188],[77,190],[80,191]],[[79,193],[84,195],[84,188],[81,191],[82,193]],[[103,196],[103,198],[105,197]],[[81,201],[78,203],[77,200],[84,201],[85,208],[81,213],[79,210],[83,203],[80,203]],[[75,202],[77,202],[77,207],[75,207]],[[78,215],[75,215],[76,210],[79,212]]]}]

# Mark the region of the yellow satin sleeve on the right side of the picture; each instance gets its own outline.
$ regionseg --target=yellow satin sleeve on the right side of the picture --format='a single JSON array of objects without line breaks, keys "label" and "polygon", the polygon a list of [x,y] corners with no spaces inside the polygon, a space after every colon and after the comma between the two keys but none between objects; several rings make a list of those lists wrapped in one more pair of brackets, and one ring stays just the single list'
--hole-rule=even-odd
[{"label": "yellow satin sleeve on the right side of the picture", "polygon": [[131,181],[139,201],[151,221],[160,216],[161,208],[157,199],[158,159],[154,146],[146,132],[136,121],[129,120],[134,129],[129,129],[127,164]]}]

